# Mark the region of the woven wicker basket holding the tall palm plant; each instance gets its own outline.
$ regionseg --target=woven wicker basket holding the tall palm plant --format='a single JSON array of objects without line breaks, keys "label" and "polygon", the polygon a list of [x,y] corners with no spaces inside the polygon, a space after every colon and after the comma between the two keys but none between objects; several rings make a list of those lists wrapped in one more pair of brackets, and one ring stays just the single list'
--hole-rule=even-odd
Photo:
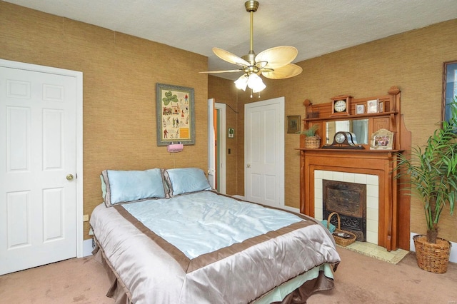
[{"label": "woven wicker basket holding the tall palm plant", "polygon": [[448,270],[451,242],[436,238],[436,244],[428,243],[426,235],[414,235],[417,265],[431,273],[446,273]]}]

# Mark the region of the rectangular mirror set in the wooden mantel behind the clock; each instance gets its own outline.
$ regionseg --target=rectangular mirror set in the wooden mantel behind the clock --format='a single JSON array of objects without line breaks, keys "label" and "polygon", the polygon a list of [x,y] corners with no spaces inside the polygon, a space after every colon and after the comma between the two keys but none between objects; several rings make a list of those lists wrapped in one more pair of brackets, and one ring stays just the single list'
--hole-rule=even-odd
[{"label": "rectangular mirror set in the wooden mantel behind the clock", "polygon": [[357,143],[368,144],[368,119],[351,119],[348,121],[327,121],[326,144],[333,142],[336,132],[348,131],[356,134]]}]

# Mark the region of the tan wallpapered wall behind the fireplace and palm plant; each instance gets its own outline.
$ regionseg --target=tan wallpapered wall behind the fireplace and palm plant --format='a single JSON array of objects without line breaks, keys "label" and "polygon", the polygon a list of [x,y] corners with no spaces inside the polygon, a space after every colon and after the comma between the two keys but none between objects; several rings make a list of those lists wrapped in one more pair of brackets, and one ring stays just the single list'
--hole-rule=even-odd
[{"label": "tan wallpapered wall behind the fireplace and palm plant", "polygon": [[[441,120],[443,62],[457,60],[455,41],[457,19],[301,61],[298,65],[303,68],[302,74],[284,80],[266,80],[267,87],[260,99],[249,98],[247,91],[238,91],[236,192],[244,193],[245,103],[284,96],[285,115],[304,118],[302,103],[306,98],[318,104],[341,94],[354,98],[383,95],[391,86],[398,86],[406,128],[412,133],[413,145],[422,145],[435,130],[435,123]],[[209,91],[212,86],[212,78],[209,78]],[[301,126],[303,128],[303,123]],[[285,201],[287,206],[296,208],[300,198],[300,160],[295,150],[298,147],[299,135],[286,133]],[[439,235],[457,241],[456,224],[457,215],[451,217],[448,211],[444,212]],[[425,233],[423,208],[416,198],[411,201],[411,231]]]}]

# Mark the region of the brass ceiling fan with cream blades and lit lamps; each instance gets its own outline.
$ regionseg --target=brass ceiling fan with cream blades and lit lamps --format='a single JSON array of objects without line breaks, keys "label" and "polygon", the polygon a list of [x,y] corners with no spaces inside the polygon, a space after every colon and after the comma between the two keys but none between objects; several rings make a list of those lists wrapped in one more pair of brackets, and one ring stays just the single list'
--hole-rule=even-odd
[{"label": "brass ceiling fan with cream blades and lit lamps", "polygon": [[303,69],[296,64],[291,64],[293,59],[296,58],[298,51],[293,46],[276,46],[271,49],[261,51],[256,55],[253,51],[253,13],[258,9],[258,1],[249,0],[244,3],[246,11],[251,14],[251,35],[250,35],[250,49],[247,55],[238,57],[231,54],[229,51],[223,49],[213,48],[214,54],[220,59],[227,61],[231,64],[236,64],[239,69],[225,70],[225,71],[205,71],[200,73],[234,73],[243,72],[236,81],[236,88],[243,91],[246,86],[251,88],[253,93],[258,93],[266,88],[261,77],[271,79],[283,79],[297,76]]}]

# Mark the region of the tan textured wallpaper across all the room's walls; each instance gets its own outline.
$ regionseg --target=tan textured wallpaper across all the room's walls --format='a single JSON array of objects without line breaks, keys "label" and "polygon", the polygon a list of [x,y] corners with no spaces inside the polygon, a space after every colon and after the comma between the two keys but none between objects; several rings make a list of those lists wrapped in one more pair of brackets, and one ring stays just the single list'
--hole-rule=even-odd
[{"label": "tan textured wallpaper across all the room's walls", "polygon": [[[457,19],[302,61],[301,75],[267,80],[261,100],[285,96],[286,116],[303,116],[305,98],[313,103],[343,93],[361,98],[396,85],[413,145],[422,144],[440,120],[442,64],[457,60],[456,39]],[[1,59],[84,73],[84,213],[101,202],[99,172],[105,168],[206,169],[207,158],[201,156],[207,151],[207,96],[238,111],[227,109],[227,126],[236,128],[235,139],[227,141],[228,148],[235,147],[227,156],[227,168],[236,166],[236,172],[228,171],[227,191],[243,194],[243,107],[258,98],[233,93],[231,81],[214,81],[216,77],[210,76],[208,85],[205,75],[196,74],[206,71],[206,57],[4,1],[0,44]],[[157,82],[195,89],[196,145],[186,146],[183,153],[166,153],[156,146]],[[286,204],[298,208],[299,158],[294,148],[298,135],[286,134]],[[411,205],[411,230],[422,233],[422,208],[414,200]],[[441,237],[456,241],[456,222],[456,216],[444,213]],[[85,238],[88,230],[86,223]]]}]

